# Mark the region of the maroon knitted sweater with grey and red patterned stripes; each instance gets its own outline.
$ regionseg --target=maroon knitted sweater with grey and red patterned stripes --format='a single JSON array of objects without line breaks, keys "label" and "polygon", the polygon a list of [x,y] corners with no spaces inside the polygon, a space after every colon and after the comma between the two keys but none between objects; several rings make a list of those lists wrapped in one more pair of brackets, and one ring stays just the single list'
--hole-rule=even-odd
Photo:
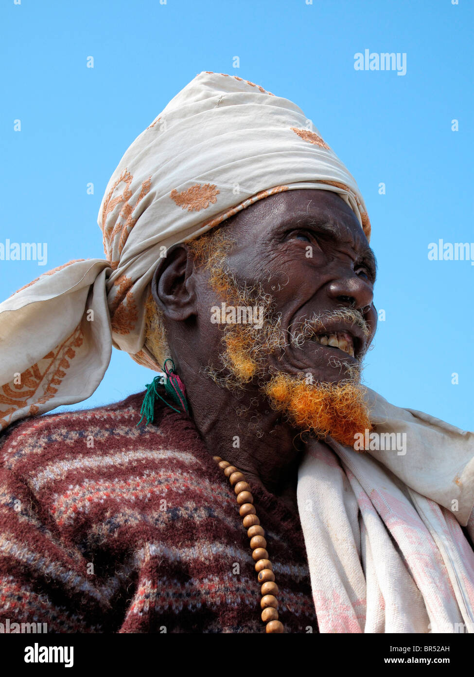
[{"label": "maroon knitted sweater with grey and red patterned stripes", "polygon": [[[229,481],[185,414],[157,407],[155,423],[137,427],[143,395],[27,418],[0,436],[3,624],[264,632]],[[298,512],[252,493],[285,632],[318,632]]]}]

